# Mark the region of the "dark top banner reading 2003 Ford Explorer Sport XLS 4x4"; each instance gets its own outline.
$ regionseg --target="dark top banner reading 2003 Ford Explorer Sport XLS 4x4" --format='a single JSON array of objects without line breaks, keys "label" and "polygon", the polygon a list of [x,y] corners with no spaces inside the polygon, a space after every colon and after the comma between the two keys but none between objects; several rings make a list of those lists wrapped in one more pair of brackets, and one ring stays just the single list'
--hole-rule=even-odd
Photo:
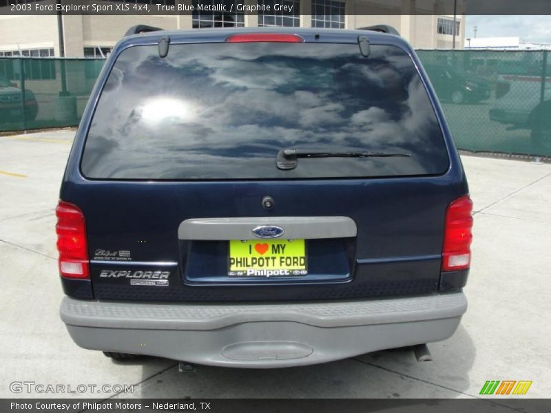
[{"label": "dark top banner reading 2003 Ford Explorer Sport XLS 4x4", "polygon": [[[344,6],[344,7],[343,7]],[[550,0],[0,0],[1,15],[28,14],[551,14]]]}]

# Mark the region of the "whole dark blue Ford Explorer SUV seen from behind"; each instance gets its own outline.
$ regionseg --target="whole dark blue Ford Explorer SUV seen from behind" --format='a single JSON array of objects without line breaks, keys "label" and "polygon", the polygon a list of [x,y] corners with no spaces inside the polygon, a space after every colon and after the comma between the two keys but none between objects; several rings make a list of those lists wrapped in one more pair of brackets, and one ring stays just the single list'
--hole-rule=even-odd
[{"label": "whole dark blue Ford Explorer SUV seen from behind", "polygon": [[466,178],[393,34],[127,36],[60,198],[61,318],[112,357],[298,366],[443,340],[466,311]]}]

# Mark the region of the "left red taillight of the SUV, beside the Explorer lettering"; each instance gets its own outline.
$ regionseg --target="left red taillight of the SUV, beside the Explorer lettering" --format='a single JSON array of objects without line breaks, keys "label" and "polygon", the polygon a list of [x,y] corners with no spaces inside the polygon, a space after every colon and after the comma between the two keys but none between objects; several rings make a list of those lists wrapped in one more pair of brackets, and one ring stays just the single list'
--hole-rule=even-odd
[{"label": "left red taillight of the SUV, beside the Explorer lettering", "polygon": [[59,201],[56,217],[61,277],[90,278],[84,214],[76,205]]}]

